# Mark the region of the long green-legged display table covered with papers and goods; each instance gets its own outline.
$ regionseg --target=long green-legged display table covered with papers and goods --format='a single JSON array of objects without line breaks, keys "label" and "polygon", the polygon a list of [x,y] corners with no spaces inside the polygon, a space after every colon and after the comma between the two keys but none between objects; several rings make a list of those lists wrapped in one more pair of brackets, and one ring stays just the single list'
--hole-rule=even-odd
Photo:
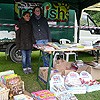
[{"label": "long green-legged display table covered with papers and goods", "polygon": [[[40,50],[37,80],[40,79],[38,76],[39,76],[41,52],[44,51],[44,52],[50,54],[50,61],[49,61],[49,68],[48,68],[48,77],[47,77],[47,82],[45,82],[46,83],[46,89],[49,89],[49,80],[50,80],[50,73],[51,73],[51,68],[52,68],[52,63],[53,63],[53,53],[54,52],[72,52],[72,51],[80,52],[80,51],[97,50],[97,53],[98,53],[97,54],[97,61],[99,59],[99,50],[100,49],[93,48],[92,46],[83,46],[83,45],[80,45],[80,44],[60,45],[58,43],[51,42],[51,43],[48,43],[46,45],[36,45],[36,44],[34,44],[33,47],[37,48],[38,50]],[[40,84],[40,82],[39,82],[39,84]]]}]

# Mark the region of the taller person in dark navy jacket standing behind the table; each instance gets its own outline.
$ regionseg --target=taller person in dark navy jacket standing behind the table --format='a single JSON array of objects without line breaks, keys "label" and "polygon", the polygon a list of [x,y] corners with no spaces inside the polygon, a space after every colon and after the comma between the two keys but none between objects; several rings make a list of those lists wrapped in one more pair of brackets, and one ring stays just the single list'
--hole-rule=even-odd
[{"label": "taller person in dark navy jacket standing behind the table", "polygon": [[[45,17],[42,16],[42,10],[40,6],[35,6],[33,9],[33,15],[31,17],[33,34],[36,44],[46,44],[51,41],[49,25]],[[42,52],[42,59],[44,67],[49,66],[49,55],[46,52]]]}]

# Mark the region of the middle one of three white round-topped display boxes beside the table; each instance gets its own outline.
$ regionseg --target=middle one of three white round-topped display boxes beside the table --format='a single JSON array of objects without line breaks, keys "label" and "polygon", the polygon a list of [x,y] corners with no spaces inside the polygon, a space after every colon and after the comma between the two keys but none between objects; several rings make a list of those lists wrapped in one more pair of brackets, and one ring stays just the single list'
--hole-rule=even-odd
[{"label": "middle one of three white round-topped display boxes beside the table", "polygon": [[64,79],[64,84],[68,92],[72,94],[86,93],[86,86],[82,85],[80,76],[77,72],[69,72]]}]

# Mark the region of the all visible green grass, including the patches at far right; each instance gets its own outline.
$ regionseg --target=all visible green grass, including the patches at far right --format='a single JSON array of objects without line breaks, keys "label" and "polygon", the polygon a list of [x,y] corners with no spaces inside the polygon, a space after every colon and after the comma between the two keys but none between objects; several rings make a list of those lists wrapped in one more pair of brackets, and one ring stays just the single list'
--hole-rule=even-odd
[{"label": "all visible green grass, including the patches at far right", "polygon": [[[25,89],[28,92],[42,90],[40,85],[37,82],[37,68],[38,68],[38,57],[39,51],[32,52],[32,68],[34,70],[34,74],[25,75],[22,71],[22,64],[21,63],[14,63],[8,59],[6,60],[5,53],[0,52],[0,72],[6,70],[14,70],[16,74],[20,75],[22,80],[25,83]],[[79,53],[79,59],[83,61],[92,61],[94,58],[90,56],[88,53]],[[100,100],[100,91],[86,93],[86,94],[79,94],[76,95],[78,100]]]}]

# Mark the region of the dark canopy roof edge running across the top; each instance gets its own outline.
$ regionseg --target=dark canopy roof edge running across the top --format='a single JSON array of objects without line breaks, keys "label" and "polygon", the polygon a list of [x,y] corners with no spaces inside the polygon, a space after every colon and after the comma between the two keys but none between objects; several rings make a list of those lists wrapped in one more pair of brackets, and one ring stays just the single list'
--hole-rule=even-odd
[{"label": "dark canopy roof edge running across the top", "polygon": [[[65,2],[70,5],[71,9],[76,10],[77,18],[80,19],[81,12],[84,8],[87,8],[93,4],[99,3],[100,0],[0,0],[0,3],[14,3],[14,1],[25,2]],[[79,20],[78,20],[79,24]]]}]

